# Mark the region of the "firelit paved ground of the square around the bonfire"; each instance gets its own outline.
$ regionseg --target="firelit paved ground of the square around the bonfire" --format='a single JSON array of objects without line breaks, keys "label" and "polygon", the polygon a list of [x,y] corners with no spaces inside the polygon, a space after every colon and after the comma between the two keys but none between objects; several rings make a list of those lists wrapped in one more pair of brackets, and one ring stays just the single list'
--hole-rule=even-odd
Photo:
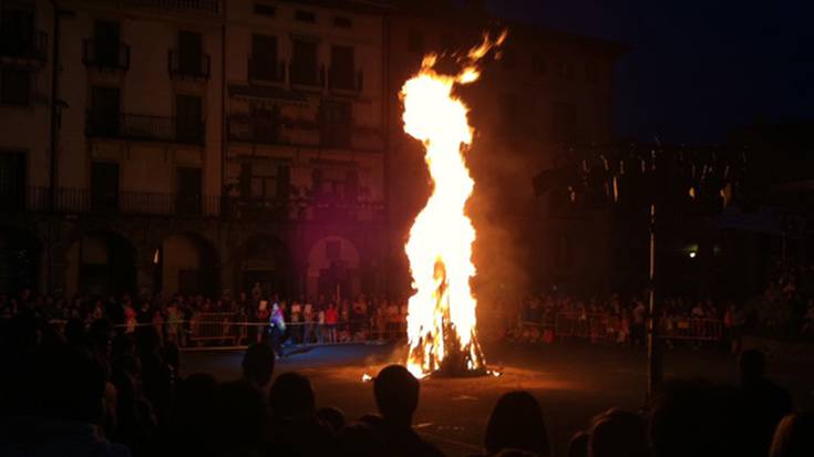
[{"label": "firelit paved ground of the square around the bonfire", "polygon": [[[353,418],[374,411],[372,387],[361,382],[362,374],[374,374],[399,356],[399,349],[388,345],[319,347],[280,361],[277,373],[305,373],[319,405],[338,406]],[[501,377],[422,381],[415,422],[427,439],[451,456],[478,450],[492,406],[511,390],[530,391],[540,401],[556,455],[565,454],[568,438],[593,415],[612,406],[638,409],[645,402],[643,351],[516,344],[487,346],[486,356],[491,366],[503,372]],[[239,352],[186,352],[183,368],[187,374],[203,371],[230,380],[239,375],[240,357]],[[812,362],[814,354],[770,361],[773,377],[792,392],[797,405],[814,404]],[[676,350],[666,356],[666,375],[734,383],[735,361],[711,350]]]}]

